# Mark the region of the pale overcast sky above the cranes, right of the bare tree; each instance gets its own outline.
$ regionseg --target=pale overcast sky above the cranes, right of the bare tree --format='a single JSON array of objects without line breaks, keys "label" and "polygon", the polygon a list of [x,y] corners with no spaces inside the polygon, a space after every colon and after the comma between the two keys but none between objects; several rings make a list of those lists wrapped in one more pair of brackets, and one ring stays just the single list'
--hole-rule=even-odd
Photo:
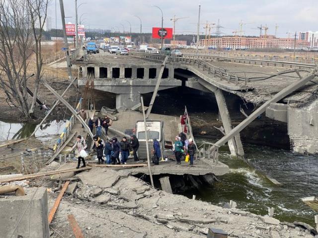
[{"label": "pale overcast sky above the cranes, right of the bare tree", "polygon": [[[59,0],[52,0],[48,15],[53,18],[55,28],[55,2],[57,4],[57,26],[61,28],[61,11]],[[79,4],[83,3],[79,6]],[[275,24],[279,26],[278,37],[287,37],[287,32],[318,31],[317,0],[78,0],[79,16],[85,28],[111,29],[140,32],[142,19],[143,32],[151,32],[153,26],[161,25],[161,13],[152,4],[158,5],[163,11],[163,27],[172,27],[170,20],[173,15],[187,17],[176,22],[176,34],[196,34],[198,21],[198,5],[201,3],[200,32],[205,32],[204,23],[217,23],[224,28],[225,34],[239,30],[239,22],[244,23],[245,35],[259,35],[257,26],[267,24],[268,34],[274,34]],[[64,0],[66,22],[75,23],[75,0]],[[215,33],[215,28],[213,32]],[[292,33],[292,34],[293,34]],[[291,34],[291,35],[292,35]]]}]

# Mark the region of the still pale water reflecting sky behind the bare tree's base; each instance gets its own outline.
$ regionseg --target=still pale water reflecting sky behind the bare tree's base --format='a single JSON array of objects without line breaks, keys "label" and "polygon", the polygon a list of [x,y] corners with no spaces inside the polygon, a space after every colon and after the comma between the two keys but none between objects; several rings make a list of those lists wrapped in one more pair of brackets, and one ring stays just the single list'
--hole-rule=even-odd
[{"label": "still pale water reflecting sky behind the bare tree's base", "polygon": [[[35,136],[56,135],[62,133],[67,121],[54,120],[43,124]],[[0,141],[29,137],[37,124],[0,121]]]}]

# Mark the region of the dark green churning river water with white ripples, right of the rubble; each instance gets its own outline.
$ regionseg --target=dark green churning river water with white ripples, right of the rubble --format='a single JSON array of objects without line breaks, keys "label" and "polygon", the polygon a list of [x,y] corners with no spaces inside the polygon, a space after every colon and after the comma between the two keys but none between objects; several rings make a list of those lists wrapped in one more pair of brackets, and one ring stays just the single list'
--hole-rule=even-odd
[{"label": "dark green churning river water with white ripples, right of the rubble", "polygon": [[[197,199],[215,205],[234,200],[239,209],[260,215],[268,214],[268,208],[273,207],[274,217],[281,221],[315,225],[317,212],[300,199],[318,192],[317,156],[247,144],[244,145],[245,160],[242,160],[231,158],[226,147],[222,150],[219,159],[229,165],[230,173],[219,176],[220,181],[213,186],[192,191]],[[265,174],[277,179],[282,186],[271,183]]]}]

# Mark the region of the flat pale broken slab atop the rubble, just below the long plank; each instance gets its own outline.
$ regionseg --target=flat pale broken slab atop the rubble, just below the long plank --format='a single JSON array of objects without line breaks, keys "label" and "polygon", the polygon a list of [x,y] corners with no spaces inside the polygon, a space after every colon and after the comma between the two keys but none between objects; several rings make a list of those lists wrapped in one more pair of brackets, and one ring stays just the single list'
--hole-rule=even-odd
[{"label": "flat pale broken slab atop the rubble, just below the long plank", "polygon": [[117,171],[101,167],[92,167],[89,171],[77,174],[76,177],[78,177],[84,184],[87,183],[100,188],[112,187],[120,178]]}]

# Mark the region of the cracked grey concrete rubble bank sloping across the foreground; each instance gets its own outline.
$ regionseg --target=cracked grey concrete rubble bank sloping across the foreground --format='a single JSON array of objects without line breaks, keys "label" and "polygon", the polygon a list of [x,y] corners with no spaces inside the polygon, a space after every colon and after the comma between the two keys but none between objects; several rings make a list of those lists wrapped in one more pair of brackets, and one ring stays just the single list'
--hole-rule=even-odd
[{"label": "cracked grey concrete rubble bank sloping across the foreground", "polygon": [[[75,190],[65,195],[52,222],[51,237],[73,236],[69,214],[87,238],[196,238],[206,236],[209,228],[230,237],[313,237],[294,224],[153,189],[121,170],[93,167],[76,177]],[[49,208],[56,197],[49,193]]]}]

